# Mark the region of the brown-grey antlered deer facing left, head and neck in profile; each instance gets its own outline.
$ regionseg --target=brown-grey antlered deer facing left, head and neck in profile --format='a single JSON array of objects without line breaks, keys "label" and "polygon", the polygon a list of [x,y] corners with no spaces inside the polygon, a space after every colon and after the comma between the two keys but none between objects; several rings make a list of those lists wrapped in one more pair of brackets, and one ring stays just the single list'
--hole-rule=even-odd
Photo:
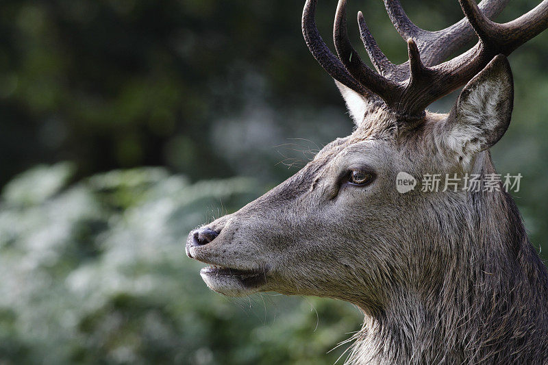
[{"label": "brown-grey antlered deer facing left, head and neck in profile", "polygon": [[[496,173],[489,149],[513,108],[507,56],[548,27],[548,0],[492,21],[507,2],[459,0],[464,18],[429,32],[398,0],[384,0],[407,42],[403,64],[386,58],[358,12],[375,72],[349,40],[347,1],[336,9],[335,55],[316,27],[317,0],[306,0],[306,45],[356,126],[262,197],[190,232],[186,255],[210,265],[200,271],[207,286],[231,297],[273,291],[353,303],[364,323],[347,364],[548,364],[547,268],[501,182],[396,187],[402,171]],[[449,113],[427,110],[462,86]]]}]

